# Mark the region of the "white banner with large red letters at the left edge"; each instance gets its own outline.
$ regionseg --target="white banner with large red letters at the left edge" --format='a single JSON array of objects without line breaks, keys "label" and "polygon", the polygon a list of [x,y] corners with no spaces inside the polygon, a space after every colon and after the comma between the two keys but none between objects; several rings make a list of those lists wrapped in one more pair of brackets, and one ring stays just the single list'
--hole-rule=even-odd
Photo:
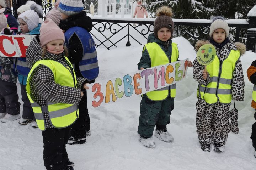
[{"label": "white banner with large red letters at the left edge", "polygon": [[35,35],[0,35],[1,57],[26,57],[26,50]]}]

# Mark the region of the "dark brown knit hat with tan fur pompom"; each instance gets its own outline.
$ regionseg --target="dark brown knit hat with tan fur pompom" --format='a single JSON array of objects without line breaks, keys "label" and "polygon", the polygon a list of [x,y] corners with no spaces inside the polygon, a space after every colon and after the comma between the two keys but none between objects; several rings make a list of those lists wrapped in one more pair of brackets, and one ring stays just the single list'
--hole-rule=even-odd
[{"label": "dark brown knit hat with tan fur pompom", "polygon": [[174,32],[174,22],[172,21],[173,13],[170,7],[168,6],[163,6],[161,8],[158,8],[156,10],[156,19],[154,22],[154,35],[156,38],[157,32],[159,29],[166,27],[170,29],[171,31],[171,38],[172,38],[172,33]]}]

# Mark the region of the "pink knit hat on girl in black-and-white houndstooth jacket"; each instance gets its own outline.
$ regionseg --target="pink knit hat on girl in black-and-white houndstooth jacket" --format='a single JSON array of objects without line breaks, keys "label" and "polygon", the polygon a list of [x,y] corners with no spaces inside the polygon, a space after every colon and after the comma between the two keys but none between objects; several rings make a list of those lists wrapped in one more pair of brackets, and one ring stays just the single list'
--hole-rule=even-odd
[{"label": "pink knit hat on girl in black-and-white houndstooth jacket", "polygon": [[65,42],[65,36],[57,24],[52,19],[47,18],[40,27],[40,42],[41,45],[46,45],[48,42],[53,40],[63,40]]}]

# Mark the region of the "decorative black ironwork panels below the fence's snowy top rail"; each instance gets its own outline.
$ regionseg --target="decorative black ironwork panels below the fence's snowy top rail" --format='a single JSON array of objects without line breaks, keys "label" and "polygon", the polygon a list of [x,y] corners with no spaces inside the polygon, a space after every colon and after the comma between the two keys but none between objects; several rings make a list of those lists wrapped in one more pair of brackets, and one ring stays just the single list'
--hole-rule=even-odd
[{"label": "decorative black ironwork panels below the fence's snowy top rail", "polygon": [[[175,20],[175,19],[174,19]],[[139,38],[134,35],[134,33],[139,34],[139,36],[148,38],[150,33],[154,30],[154,21],[124,21],[119,19],[92,19],[93,29],[91,31],[92,36],[96,39],[96,47],[101,45],[105,46],[107,49],[111,47],[117,47],[118,42],[127,38],[126,46],[130,46],[130,40],[137,42],[139,45],[143,45],[146,41],[139,41]],[[179,21],[181,21],[179,19]],[[123,24],[124,23],[124,24]],[[133,24],[138,24],[134,26]],[[190,41],[192,45],[196,43],[199,39],[208,39],[210,22],[199,23],[199,22],[175,22],[174,27],[174,37],[184,36]],[[244,35],[244,30],[249,27],[249,24],[239,23],[239,24],[229,24],[230,26],[230,39],[233,42],[243,42],[246,44],[246,35]],[[110,36],[108,33],[110,33]],[[100,33],[97,34],[97,33]],[[241,36],[241,37],[240,37]],[[130,39],[131,38],[131,39]],[[143,38],[143,40],[144,40]]]}]

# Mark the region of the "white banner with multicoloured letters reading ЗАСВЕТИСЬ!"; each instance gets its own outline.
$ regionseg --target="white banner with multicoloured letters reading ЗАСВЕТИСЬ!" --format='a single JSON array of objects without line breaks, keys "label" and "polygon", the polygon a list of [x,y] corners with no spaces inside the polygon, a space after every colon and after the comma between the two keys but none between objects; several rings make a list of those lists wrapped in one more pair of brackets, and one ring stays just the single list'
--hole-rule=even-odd
[{"label": "white banner with multicoloured letters reading \u0417\u0410\u0421\u0412\u0415\u0422\u0418\u0421\u042c!", "polygon": [[185,77],[187,63],[188,58],[89,84],[87,108],[118,102],[175,84]]}]

